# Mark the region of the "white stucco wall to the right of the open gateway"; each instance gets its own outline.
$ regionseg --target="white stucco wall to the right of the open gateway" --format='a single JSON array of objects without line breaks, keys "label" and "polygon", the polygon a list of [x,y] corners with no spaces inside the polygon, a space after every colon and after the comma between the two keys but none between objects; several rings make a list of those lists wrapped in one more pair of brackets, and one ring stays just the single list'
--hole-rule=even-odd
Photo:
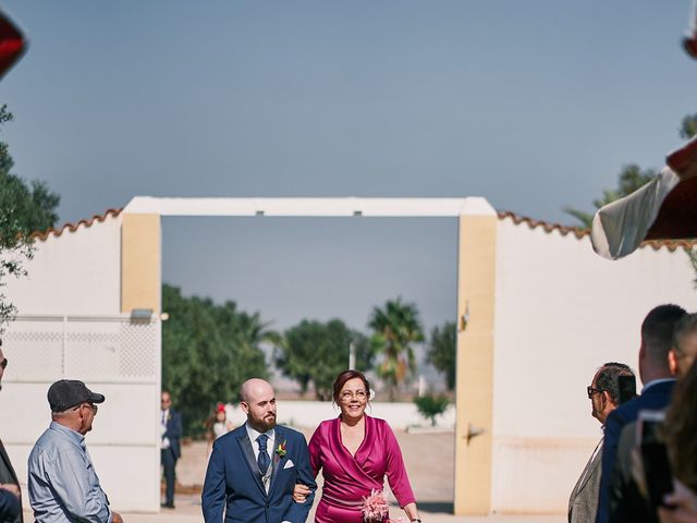
[{"label": "white stucco wall to the right of the open gateway", "polygon": [[683,251],[609,262],[588,238],[499,221],[493,511],[566,510],[601,437],[586,386],[606,362],[638,370],[641,320],[662,303],[695,311],[694,277]]}]

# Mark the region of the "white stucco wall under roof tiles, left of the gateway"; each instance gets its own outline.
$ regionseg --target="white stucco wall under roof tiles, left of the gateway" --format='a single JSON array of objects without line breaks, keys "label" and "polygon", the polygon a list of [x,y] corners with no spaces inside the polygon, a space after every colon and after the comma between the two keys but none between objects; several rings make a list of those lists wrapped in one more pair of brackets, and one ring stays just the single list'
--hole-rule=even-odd
[{"label": "white stucco wall under roof tiles, left of the gateway", "polygon": [[121,311],[121,218],[68,228],[36,241],[28,276],[8,278],[5,294],[22,315],[113,315]]}]

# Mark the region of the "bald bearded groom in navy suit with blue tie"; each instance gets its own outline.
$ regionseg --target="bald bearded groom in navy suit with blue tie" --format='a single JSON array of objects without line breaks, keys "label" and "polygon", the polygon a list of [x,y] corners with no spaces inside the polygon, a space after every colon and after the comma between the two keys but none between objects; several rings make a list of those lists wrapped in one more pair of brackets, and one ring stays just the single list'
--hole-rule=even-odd
[{"label": "bald bearded groom in navy suit with blue tie", "polygon": [[[276,425],[276,394],[267,381],[245,381],[240,396],[247,423],[213,443],[201,495],[204,520],[304,523],[317,488],[305,437]],[[311,490],[303,503],[293,501],[296,483]]]}]

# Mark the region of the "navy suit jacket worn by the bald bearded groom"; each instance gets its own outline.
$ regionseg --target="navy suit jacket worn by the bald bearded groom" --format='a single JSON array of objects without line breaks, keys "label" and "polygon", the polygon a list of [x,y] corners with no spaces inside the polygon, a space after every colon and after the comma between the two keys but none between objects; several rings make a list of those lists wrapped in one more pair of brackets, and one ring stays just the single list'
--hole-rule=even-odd
[{"label": "navy suit jacket worn by the bald bearded groom", "polygon": [[[276,447],[285,441],[285,455],[273,452],[271,484],[267,495],[252,441],[243,425],[216,440],[206,471],[201,507],[206,523],[304,523],[315,497],[315,476],[305,437],[276,426]],[[296,483],[307,485],[304,503],[293,501]]]}]

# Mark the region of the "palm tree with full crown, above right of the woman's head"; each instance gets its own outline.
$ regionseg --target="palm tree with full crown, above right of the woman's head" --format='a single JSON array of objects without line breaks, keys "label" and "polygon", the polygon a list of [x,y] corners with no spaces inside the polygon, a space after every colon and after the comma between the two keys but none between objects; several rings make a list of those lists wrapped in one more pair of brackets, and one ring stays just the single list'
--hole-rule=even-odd
[{"label": "palm tree with full crown, above right of the woman's head", "polygon": [[387,382],[390,401],[394,401],[398,386],[408,372],[416,370],[413,344],[424,341],[424,329],[416,305],[402,303],[398,297],[386,302],[384,307],[375,307],[368,318],[372,329],[372,342],[383,354],[378,374]]}]

